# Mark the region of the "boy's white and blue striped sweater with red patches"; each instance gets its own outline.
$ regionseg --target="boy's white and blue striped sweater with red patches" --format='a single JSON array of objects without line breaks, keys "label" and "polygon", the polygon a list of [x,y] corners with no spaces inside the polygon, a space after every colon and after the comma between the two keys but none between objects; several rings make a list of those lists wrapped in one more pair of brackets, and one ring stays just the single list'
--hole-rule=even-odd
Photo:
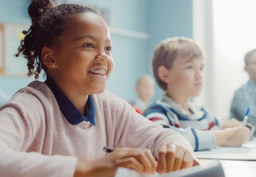
[{"label": "boy's white and blue striped sweater with red patches", "polygon": [[211,131],[205,130],[219,129],[223,122],[208,109],[193,102],[188,104],[191,114],[164,95],[162,100],[149,105],[143,116],[165,128],[180,132],[192,144],[194,151],[214,148],[216,146],[214,135]]}]

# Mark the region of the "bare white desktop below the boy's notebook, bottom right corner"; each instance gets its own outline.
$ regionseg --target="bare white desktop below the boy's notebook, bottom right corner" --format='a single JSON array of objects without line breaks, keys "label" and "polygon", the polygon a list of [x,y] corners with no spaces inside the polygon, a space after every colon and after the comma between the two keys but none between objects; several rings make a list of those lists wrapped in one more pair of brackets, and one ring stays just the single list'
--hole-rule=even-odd
[{"label": "bare white desktop below the boy's notebook, bottom right corner", "polygon": [[[199,159],[200,164],[208,165],[212,159]],[[220,160],[225,173],[225,177],[255,177],[256,161]]]}]

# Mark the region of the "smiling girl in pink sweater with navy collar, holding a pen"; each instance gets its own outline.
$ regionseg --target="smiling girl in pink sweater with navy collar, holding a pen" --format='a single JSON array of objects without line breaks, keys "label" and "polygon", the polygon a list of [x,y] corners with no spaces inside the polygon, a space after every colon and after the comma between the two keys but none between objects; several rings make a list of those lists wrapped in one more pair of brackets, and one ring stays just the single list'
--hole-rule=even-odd
[{"label": "smiling girl in pink sweater with navy collar, holding a pen", "polygon": [[[91,7],[32,0],[17,56],[35,80],[0,108],[1,176],[114,176],[118,167],[167,173],[198,165],[177,132],[105,89],[110,31]],[[116,148],[105,154],[105,146]]]}]

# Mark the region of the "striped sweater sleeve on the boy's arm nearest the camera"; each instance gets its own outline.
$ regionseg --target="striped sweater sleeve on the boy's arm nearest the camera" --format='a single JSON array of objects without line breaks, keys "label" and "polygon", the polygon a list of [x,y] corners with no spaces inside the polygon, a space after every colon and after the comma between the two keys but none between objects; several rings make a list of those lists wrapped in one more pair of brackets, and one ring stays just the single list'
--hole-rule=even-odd
[{"label": "striped sweater sleeve on the boy's arm nearest the camera", "polygon": [[162,127],[173,129],[176,132],[179,132],[181,135],[184,136],[184,138],[189,140],[189,143],[192,145],[194,151],[207,150],[216,146],[216,140],[211,131],[203,131],[199,129],[193,129],[191,127],[177,128],[170,121],[171,119],[173,119],[172,114],[166,113],[165,109],[162,109],[159,106],[155,108],[148,108],[144,112],[143,116],[156,124],[162,125]]}]

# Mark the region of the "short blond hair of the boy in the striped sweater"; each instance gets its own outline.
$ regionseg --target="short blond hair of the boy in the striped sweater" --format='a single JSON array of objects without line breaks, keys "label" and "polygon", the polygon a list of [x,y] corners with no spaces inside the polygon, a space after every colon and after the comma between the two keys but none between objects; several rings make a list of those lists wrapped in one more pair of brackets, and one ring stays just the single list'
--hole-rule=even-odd
[{"label": "short blond hair of the boy in the striped sweater", "polygon": [[200,49],[199,45],[187,37],[171,37],[162,40],[155,48],[152,58],[152,69],[157,84],[164,91],[167,89],[167,84],[158,76],[160,66],[171,69],[173,61],[177,57],[195,59],[203,56],[203,50]]}]

